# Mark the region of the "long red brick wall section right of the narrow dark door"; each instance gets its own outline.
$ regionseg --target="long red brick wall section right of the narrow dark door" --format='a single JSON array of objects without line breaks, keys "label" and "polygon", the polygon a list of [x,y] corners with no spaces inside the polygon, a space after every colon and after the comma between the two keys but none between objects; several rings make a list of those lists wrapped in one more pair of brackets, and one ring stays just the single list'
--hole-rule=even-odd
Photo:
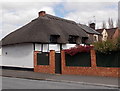
[{"label": "long red brick wall section right of the narrow dark door", "polygon": [[96,67],[95,51],[91,50],[91,67],[68,67],[65,64],[65,52],[61,52],[62,74],[120,77],[120,68]]}]

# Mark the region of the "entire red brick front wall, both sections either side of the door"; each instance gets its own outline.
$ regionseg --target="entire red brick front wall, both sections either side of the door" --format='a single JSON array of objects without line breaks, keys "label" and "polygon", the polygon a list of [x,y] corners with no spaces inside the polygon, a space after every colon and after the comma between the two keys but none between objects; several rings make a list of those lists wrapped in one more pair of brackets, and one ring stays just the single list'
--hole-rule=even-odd
[{"label": "entire red brick front wall, both sections either side of the door", "polygon": [[[34,71],[55,74],[55,51],[50,51],[50,65],[37,65],[37,53],[34,52]],[[97,67],[95,51],[91,50],[91,67],[71,67],[65,64],[65,52],[61,51],[62,74],[120,77],[120,68]]]}]

